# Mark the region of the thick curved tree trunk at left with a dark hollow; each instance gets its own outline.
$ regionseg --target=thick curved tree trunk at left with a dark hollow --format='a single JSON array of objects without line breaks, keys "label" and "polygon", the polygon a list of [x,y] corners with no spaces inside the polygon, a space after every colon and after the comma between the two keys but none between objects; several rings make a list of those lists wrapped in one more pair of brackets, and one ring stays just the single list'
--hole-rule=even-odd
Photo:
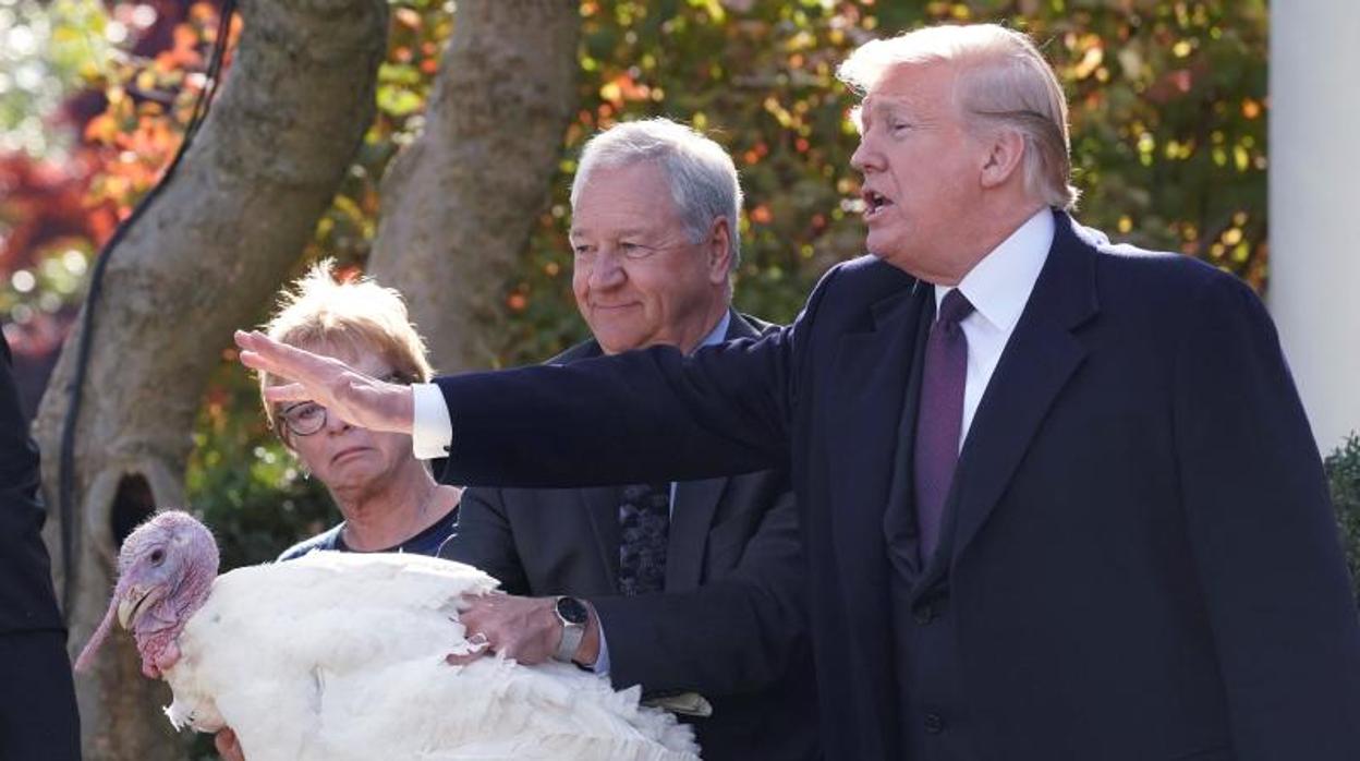
[{"label": "thick curved tree trunk at left with a dark hollow", "polygon": [[[103,295],[82,314],[38,412],[46,500],[56,505],[76,346],[92,314],[72,474],[73,652],[107,606],[121,532],[151,505],[184,504],[189,432],[208,376],[231,329],[257,317],[301,255],[373,120],[384,0],[243,0],[242,16],[208,121],[109,252]],[[49,546],[60,569],[54,524]],[[131,637],[120,632],[76,685],[86,758],[185,756],[159,711],[169,690],[139,675]]]}]

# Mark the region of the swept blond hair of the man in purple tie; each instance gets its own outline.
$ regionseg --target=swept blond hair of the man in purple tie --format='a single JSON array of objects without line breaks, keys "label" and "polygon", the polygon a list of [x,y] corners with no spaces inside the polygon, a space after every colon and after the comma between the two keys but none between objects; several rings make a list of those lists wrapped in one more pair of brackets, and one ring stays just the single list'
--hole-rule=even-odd
[{"label": "swept blond hair of the man in purple tie", "polygon": [[894,67],[929,63],[957,67],[955,98],[966,116],[1024,136],[1024,181],[1032,197],[1057,208],[1076,206],[1080,192],[1072,185],[1068,101],[1027,35],[991,23],[930,26],[861,45],[836,76],[865,94]]}]

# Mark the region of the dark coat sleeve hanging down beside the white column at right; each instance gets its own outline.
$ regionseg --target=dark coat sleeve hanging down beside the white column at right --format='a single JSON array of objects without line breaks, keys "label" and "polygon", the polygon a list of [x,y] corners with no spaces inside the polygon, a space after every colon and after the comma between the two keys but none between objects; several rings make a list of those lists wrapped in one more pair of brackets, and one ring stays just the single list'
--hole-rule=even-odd
[{"label": "dark coat sleeve hanging down beside the white column at right", "polygon": [[[1341,349],[1341,347],[1338,347]],[[1187,316],[1175,436],[1240,758],[1360,758],[1360,624],[1274,327],[1216,278]]]}]

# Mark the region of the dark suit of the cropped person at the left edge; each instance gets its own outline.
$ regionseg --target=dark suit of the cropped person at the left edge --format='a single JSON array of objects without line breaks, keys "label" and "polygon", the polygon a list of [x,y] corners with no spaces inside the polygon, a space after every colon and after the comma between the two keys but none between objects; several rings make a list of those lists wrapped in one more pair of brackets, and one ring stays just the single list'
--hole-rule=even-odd
[{"label": "dark suit of the cropped person at the left edge", "polygon": [[67,630],[38,532],[38,449],[0,336],[0,758],[79,758]]}]

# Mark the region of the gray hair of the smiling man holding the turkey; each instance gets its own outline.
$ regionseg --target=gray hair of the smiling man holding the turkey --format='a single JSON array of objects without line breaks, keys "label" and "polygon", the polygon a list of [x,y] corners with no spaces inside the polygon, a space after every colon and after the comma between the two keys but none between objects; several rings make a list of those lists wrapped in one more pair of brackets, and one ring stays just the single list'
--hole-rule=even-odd
[{"label": "gray hair of the smiling man holding the turkey", "polygon": [[669,118],[624,121],[592,137],[581,151],[571,181],[571,208],[590,173],[600,167],[657,162],[670,185],[670,197],[690,242],[703,242],[713,222],[728,221],[732,268],[741,260],[741,184],[737,167],[722,146]]}]

